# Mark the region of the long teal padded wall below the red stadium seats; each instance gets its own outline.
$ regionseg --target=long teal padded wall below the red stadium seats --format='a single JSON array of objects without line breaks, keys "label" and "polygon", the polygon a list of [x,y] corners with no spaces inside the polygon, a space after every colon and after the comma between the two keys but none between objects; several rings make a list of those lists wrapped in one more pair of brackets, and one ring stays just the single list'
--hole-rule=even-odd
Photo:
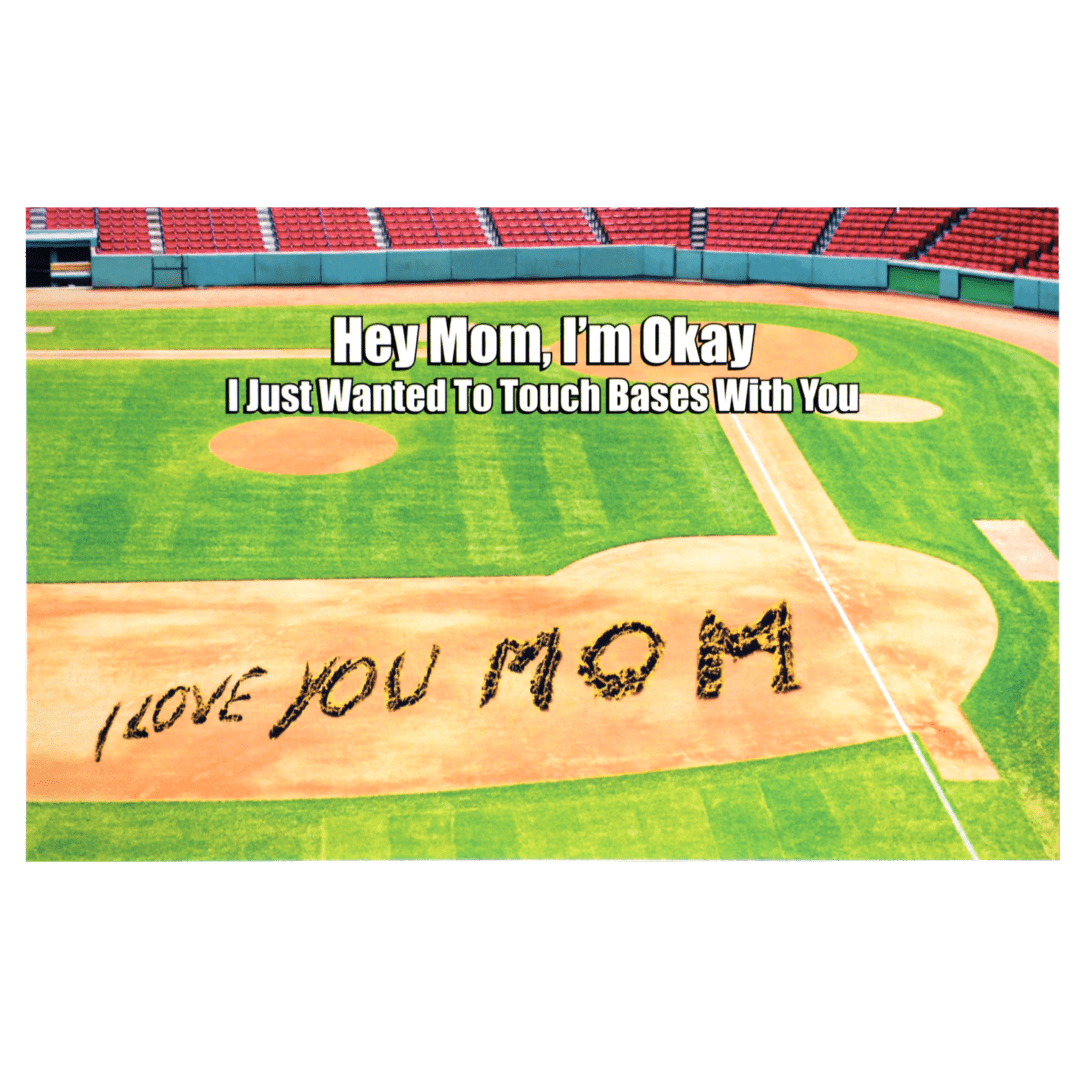
[{"label": "long teal padded wall below the red stadium seats", "polygon": [[822,288],[873,288],[1057,308],[1057,282],[978,273],[926,262],[762,252],[676,251],[656,245],[474,247],[247,255],[94,255],[95,288],[208,288],[225,285],[366,285],[379,282],[672,279]]}]

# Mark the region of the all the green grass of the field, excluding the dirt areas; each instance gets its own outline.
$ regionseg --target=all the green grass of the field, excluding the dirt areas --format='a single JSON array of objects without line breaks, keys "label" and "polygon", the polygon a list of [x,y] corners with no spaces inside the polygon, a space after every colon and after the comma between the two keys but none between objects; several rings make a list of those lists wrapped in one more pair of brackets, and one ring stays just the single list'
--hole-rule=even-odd
[{"label": "all the green grass of the field, excluding the dirt areas", "polygon": [[[785,422],[856,537],[955,563],[987,589],[1000,623],[998,645],[963,708],[1003,779],[946,787],[981,854],[1057,858],[1058,586],[1022,582],[972,524],[983,517],[1024,518],[1058,551],[1057,370],[1025,350],[961,330],[816,309],[558,301],[441,306],[437,313],[468,314],[475,322],[538,321],[550,342],[557,339],[558,316],[570,308],[594,321],[678,313],[824,330],[859,350],[853,364],[828,378],[858,380],[864,393],[923,397],[944,408],[940,419],[918,424],[842,423],[798,413]],[[337,310],[49,312],[31,321],[54,325],[55,332],[31,335],[27,348],[326,348],[328,320]],[[434,313],[430,306],[340,311],[386,322]],[[552,572],[642,539],[771,532],[712,414],[368,416],[363,419],[390,431],[400,446],[378,469],[266,477],[231,469],[205,449],[232,419],[224,413],[225,377],[294,381],[338,374],[328,362],[31,360],[27,368],[30,581]],[[373,372],[374,378],[404,375],[420,381],[441,374],[422,360],[411,373],[366,369],[365,378]],[[499,373],[470,367],[468,374]],[[588,369],[571,376],[552,368],[542,377],[582,374]],[[959,843],[955,833],[946,841],[935,832],[935,813],[948,825],[940,805],[916,812],[910,808],[921,796],[897,800],[882,794],[891,789],[887,777],[905,754],[918,769],[905,783],[914,785],[913,793],[921,783],[932,799],[909,747],[889,740],[711,770],[389,800],[31,805],[28,852],[31,858],[962,855],[962,848],[949,848]],[[854,802],[834,798],[833,781],[821,778],[835,762],[841,762],[837,775],[848,778],[843,791],[868,794]],[[769,770],[786,778],[775,788],[788,793],[777,795],[786,810],[773,809],[766,791]],[[735,794],[716,804],[723,811],[706,813],[704,832],[700,816],[698,825],[687,819],[680,832],[673,806],[684,796],[674,793],[701,791],[706,773],[712,779],[705,786]],[[760,797],[752,796],[754,784]],[[746,793],[745,799],[738,792]],[[718,834],[716,822],[727,815],[733,822],[740,814],[765,820],[754,818],[751,807],[761,798],[780,839],[768,839],[773,834],[758,825],[746,826],[741,848],[741,840],[723,839],[728,834],[723,827]],[[698,801],[707,809],[704,796]],[[811,822],[822,805],[834,825],[820,840],[807,846],[784,839],[788,826],[777,822],[787,821],[785,813]],[[619,818],[620,806],[639,825],[633,837],[604,824]],[[496,824],[484,825],[484,814]],[[595,827],[586,827],[593,821],[589,814],[596,815]],[[462,815],[473,825],[460,826]],[[394,840],[413,835],[413,818],[418,836],[445,819],[430,846]],[[865,825],[854,824],[863,819]],[[242,843],[228,839],[233,833]]]}]

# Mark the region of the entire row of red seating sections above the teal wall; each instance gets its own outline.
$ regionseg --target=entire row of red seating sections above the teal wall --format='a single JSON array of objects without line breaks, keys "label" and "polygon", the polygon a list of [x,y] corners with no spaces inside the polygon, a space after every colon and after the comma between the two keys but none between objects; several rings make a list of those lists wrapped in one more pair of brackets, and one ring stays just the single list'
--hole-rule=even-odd
[{"label": "entire row of red seating sections above the teal wall", "polygon": [[[688,248],[690,206],[593,207],[612,244],[664,244]],[[508,247],[596,244],[590,207],[490,206]],[[705,247],[713,251],[808,254],[834,206],[710,206]],[[261,252],[254,206],[162,206],[167,254]],[[98,227],[98,251],[150,254],[145,206],[24,207],[50,230]],[[33,211],[33,214],[31,214]],[[273,206],[283,252],[376,251],[364,206]],[[391,246],[487,247],[474,206],[382,206]],[[829,240],[831,256],[920,259],[930,264],[1022,276],[1058,279],[1059,207],[851,206]],[[700,221],[699,221],[700,224]]]}]

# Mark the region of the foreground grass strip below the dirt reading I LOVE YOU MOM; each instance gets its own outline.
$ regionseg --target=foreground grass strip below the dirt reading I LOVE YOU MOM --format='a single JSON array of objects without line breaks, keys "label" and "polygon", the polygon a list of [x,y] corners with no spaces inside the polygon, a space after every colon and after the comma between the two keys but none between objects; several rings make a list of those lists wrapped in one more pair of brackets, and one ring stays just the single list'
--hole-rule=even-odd
[{"label": "foreground grass strip below the dirt reading I LOVE YOU MOM", "polygon": [[[989,809],[977,793],[958,796],[962,805],[982,799],[991,853],[1040,854],[1007,785],[996,792]],[[1002,848],[995,821],[1018,839]],[[903,738],[699,769],[426,795],[27,807],[31,861],[963,856]]]}]

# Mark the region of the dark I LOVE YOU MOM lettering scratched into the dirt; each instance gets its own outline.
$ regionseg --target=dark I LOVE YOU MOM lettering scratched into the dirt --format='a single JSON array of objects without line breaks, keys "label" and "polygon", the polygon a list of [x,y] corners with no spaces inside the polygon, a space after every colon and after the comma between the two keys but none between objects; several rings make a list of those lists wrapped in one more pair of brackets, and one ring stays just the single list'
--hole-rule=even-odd
[{"label": "dark I LOVE YOU MOM lettering scratched into the dirt", "polygon": [[[600,660],[607,648],[617,639],[637,634],[645,639],[647,656],[640,666],[623,667],[619,671],[606,670]],[[554,696],[555,674],[558,671],[563,652],[559,649],[559,627],[540,631],[529,640],[519,642],[505,637],[495,647],[487,671],[481,685],[480,707],[483,708],[499,692],[499,684],[504,671],[521,675],[525,669],[537,662],[532,673],[529,690],[532,704],[541,712],[551,707]],[[432,673],[438,662],[440,646],[431,647],[423,677],[409,693],[402,692],[402,669],[405,665],[405,653],[402,652],[390,665],[383,684],[387,710],[395,713],[419,704],[428,693]],[[743,626],[742,630],[731,630],[716,617],[716,612],[706,611],[698,634],[698,672],[697,697],[702,700],[715,699],[724,689],[724,658],[732,661],[748,657],[754,652],[770,652],[773,656],[772,690],[775,693],[786,693],[799,689],[795,679],[795,652],[792,645],[792,612],[787,600],[781,600],[771,607],[756,623]],[[595,640],[584,646],[578,662],[578,675],[586,686],[591,686],[597,698],[607,701],[621,701],[623,698],[640,693],[649,677],[656,671],[664,654],[664,639],[644,622],[620,622],[609,626]],[[352,712],[361,702],[366,701],[375,690],[378,680],[378,665],[370,657],[360,657],[356,660],[345,660],[338,663],[339,657],[334,657],[322,665],[319,674],[312,674],[311,664],[305,665],[296,696],[285,707],[281,718],[270,729],[270,738],[279,739],[318,699],[319,708],[332,717],[342,717]],[[362,672],[363,684],[357,693],[347,700],[334,698],[334,690],[347,675]],[[211,712],[219,701],[217,718],[225,724],[243,720],[243,715],[234,711],[240,702],[251,701],[251,693],[241,693],[240,688],[252,679],[261,678],[268,674],[265,667],[255,666],[244,672],[237,680],[227,675],[218,686],[205,698],[199,686],[174,686],[158,698],[150,713],[150,728],[161,734],[172,728],[184,715],[188,704],[191,704],[191,723],[205,724]],[[232,690],[225,698],[229,684]],[[147,713],[154,696],[147,694],[141,705],[127,720],[123,729],[124,739],[148,739],[150,728],[146,727]],[[122,702],[117,702],[109,713],[104,727],[97,733],[94,747],[94,760],[102,760],[102,752],[120,714]]]}]

